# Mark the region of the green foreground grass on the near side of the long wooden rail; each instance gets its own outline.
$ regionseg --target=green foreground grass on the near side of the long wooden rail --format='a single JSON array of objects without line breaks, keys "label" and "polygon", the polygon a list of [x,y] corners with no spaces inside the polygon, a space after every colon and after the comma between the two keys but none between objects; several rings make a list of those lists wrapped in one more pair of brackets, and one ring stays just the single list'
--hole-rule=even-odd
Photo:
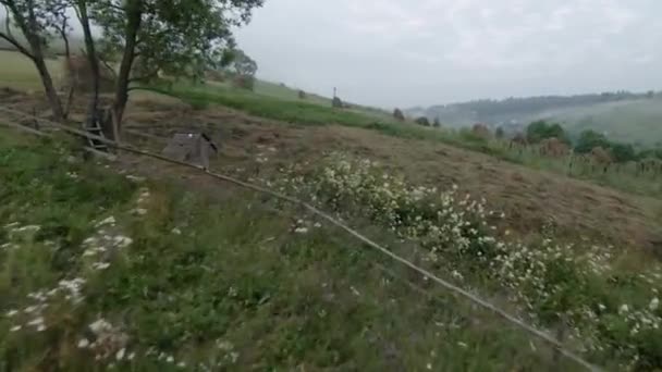
[{"label": "green foreground grass on the near side of the long wooden rail", "polygon": [[[394,281],[336,231],[292,233],[292,221],[310,216],[267,212],[241,191],[218,199],[176,183],[136,184],[71,158],[70,146],[0,131],[0,370],[550,368],[549,348],[441,290],[429,288],[432,300]],[[115,226],[96,225],[110,215]],[[16,232],[24,225],[40,228]],[[87,256],[103,244],[86,239],[103,235],[133,244]],[[79,302],[63,289],[46,295],[76,277]],[[39,317],[40,332],[28,324]],[[112,326],[95,338],[98,319]],[[78,348],[83,338],[107,356]]]}]

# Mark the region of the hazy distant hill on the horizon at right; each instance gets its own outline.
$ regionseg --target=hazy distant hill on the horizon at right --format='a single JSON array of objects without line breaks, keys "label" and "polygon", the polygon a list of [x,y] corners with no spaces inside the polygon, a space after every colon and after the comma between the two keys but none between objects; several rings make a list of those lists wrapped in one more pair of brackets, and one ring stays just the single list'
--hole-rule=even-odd
[{"label": "hazy distant hill on the horizon at right", "polygon": [[642,146],[662,141],[662,92],[654,91],[476,100],[412,108],[406,114],[439,117],[451,127],[486,123],[511,133],[522,131],[531,121],[545,119],[560,122],[571,135],[590,128],[614,140]]}]

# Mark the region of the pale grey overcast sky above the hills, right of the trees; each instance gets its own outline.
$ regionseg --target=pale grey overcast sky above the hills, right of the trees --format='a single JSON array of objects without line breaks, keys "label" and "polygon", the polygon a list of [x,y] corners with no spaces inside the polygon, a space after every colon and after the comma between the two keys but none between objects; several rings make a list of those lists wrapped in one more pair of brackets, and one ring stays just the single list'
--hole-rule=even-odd
[{"label": "pale grey overcast sky above the hills, right of the trees", "polygon": [[662,0],[266,0],[259,76],[385,108],[662,89]]}]

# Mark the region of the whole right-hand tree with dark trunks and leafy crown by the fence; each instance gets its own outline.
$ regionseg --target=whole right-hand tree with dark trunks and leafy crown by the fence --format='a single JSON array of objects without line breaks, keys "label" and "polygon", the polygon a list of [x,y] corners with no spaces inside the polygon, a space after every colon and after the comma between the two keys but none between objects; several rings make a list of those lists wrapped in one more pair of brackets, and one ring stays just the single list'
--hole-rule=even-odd
[{"label": "whole right-hand tree with dark trunks and leafy crown by the fence", "polygon": [[[263,0],[70,0],[85,34],[90,64],[99,49],[121,55],[113,103],[99,112],[94,95],[88,121],[100,120],[107,134],[121,133],[121,122],[132,84],[148,83],[160,74],[201,78],[207,67],[223,60],[220,54],[234,47],[231,28],[247,23],[252,10]],[[100,48],[90,25],[101,28]],[[139,57],[139,59],[138,59]],[[138,63],[139,65],[134,66]],[[98,69],[93,65],[93,73]],[[132,74],[134,72],[134,74]],[[135,75],[135,72],[139,72]],[[112,121],[117,125],[112,131]]]}]

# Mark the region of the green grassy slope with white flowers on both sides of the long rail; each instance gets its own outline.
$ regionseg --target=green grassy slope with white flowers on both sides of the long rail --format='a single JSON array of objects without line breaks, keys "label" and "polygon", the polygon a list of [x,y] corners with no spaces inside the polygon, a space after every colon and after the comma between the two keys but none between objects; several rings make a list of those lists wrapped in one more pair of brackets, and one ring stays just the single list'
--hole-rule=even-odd
[{"label": "green grassy slope with white flowers on both sides of the long rail", "polygon": [[[198,189],[174,170],[140,181],[122,163],[0,131],[3,369],[580,370],[302,211],[228,185]],[[552,230],[511,241],[485,202],[366,159],[332,154],[299,172],[270,184],[559,330],[593,362],[662,365],[657,262],[560,243]]]}]

